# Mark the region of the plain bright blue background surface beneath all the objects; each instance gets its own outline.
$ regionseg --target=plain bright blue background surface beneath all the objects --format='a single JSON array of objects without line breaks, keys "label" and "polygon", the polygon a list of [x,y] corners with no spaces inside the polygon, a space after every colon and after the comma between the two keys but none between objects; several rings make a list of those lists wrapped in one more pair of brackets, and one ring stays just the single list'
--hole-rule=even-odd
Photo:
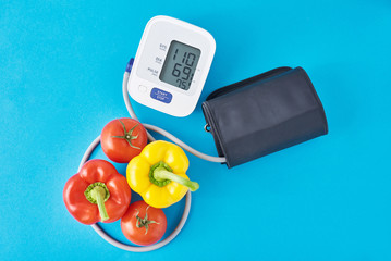
[{"label": "plain bright blue background surface beneath all the objects", "polygon": [[[184,229],[160,250],[132,253],[77,223],[62,189],[105,124],[127,115],[122,75],[159,14],[216,39],[200,101],[270,69],[303,66],[330,134],[231,170],[190,154],[200,189]],[[389,0],[1,0],[1,259],[391,260],[390,60]],[[200,102],[185,119],[134,107],[143,122],[216,154]],[[105,159],[100,148],[95,157]],[[182,209],[164,210],[169,231]],[[126,241],[119,222],[105,228]]]}]

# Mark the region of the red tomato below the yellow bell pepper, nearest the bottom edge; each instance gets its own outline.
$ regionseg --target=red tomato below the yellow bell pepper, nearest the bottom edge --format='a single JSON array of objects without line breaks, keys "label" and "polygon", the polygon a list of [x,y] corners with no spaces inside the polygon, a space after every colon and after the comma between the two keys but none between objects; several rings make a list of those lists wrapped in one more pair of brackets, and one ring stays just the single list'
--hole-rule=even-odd
[{"label": "red tomato below the yellow bell pepper, nearest the bottom edge", "polygon": [[166,228],[164,212],[143,200],[132,203],[121,220],[122,233],[129,240],[140,246],[159,241]]}]

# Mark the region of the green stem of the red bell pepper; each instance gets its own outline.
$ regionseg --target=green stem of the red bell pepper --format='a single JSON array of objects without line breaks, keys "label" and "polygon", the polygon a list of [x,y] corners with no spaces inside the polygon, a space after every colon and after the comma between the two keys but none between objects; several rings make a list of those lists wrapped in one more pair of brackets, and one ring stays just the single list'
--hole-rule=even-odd
[{"label": "green stem of the red bell pepper", "polygon": [[107,221],[109,215],[106,211],[105,202],[109,199],[110,192],[105,183],[93,183],[84,191],[86,199],[95,204],[98,204],[100,220]]}]

